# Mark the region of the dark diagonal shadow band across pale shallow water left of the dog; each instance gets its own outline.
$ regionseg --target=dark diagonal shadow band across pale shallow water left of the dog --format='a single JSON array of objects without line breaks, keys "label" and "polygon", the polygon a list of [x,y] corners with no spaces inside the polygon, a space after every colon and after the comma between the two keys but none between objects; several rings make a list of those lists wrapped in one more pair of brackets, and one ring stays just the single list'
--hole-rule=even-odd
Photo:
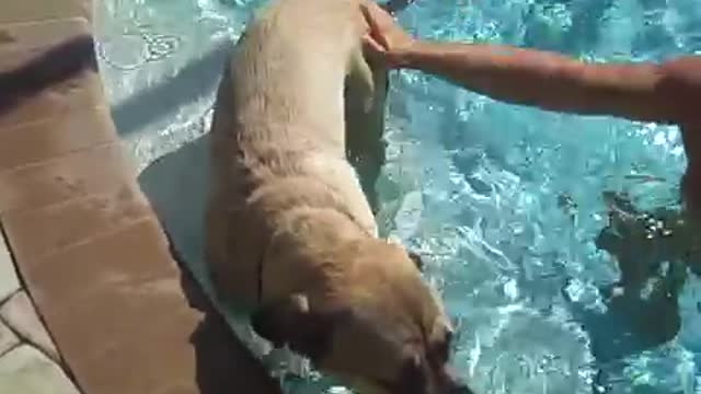
[{"label": "dark diagonal shadow band across pale shallow water left of the dog", "polygon": [[174,76],[138,90],[123,103],[112,107],[112,117],[120,136],[173,114],[197,97],[211,94],[216,88],[233,44],[223,39],[202,57],[189,61]]}]

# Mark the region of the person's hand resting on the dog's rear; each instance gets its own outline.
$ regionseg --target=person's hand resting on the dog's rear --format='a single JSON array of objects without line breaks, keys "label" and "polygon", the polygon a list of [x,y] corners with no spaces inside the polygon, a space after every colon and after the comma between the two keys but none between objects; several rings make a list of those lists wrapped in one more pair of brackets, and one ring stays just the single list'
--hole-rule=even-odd
[{"label": "person's hand resting on the dog's rear", "polygon": [[414,38],[375,1],[364,1],[360,8],[369,26],[369,32],[363,37],[365,49],[388,68],[402,67]]}]

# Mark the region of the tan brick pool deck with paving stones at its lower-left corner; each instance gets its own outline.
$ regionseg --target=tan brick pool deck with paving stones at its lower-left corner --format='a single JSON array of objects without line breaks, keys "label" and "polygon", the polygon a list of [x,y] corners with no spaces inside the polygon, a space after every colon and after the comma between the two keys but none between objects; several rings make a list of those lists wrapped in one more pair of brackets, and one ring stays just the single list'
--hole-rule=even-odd
[{"label": "tan brick pool deck with paving stones at its lower-left corner", "polygon": [[89,1],[0,5],[0,392],[279,393],[170,253]]}]

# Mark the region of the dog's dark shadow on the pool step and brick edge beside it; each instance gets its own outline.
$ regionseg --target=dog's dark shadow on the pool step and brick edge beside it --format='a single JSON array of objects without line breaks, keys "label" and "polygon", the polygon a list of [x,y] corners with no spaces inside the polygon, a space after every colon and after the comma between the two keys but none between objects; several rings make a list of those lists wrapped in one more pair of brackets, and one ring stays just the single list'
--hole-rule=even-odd
[{"label": "dog's dark shadow on the pool step and brick edge beside it", "polygon": [[[182,269],[181,285],[203,320],[191,335],[200,394],[281,394],[279,384],[230,329],[200,286],[203,215],[208,179],[208,136],[165,154],[139,176]],[[199,280],[197,280],[199,279]]]}]

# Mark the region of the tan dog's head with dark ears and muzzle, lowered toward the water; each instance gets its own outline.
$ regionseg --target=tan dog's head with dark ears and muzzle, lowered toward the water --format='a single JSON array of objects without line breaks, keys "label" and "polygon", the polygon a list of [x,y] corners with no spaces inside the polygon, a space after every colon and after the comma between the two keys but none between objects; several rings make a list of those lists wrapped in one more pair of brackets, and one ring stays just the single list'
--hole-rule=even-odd
[{"label": "tan dog's head with dark ears and muzzle, lowered toward the water", "polygon": [[363,394],[469,394],[449,371],[452,327],[421,258],[378,242],[346,251],[323,289],[264,305],[255,332]]}]

